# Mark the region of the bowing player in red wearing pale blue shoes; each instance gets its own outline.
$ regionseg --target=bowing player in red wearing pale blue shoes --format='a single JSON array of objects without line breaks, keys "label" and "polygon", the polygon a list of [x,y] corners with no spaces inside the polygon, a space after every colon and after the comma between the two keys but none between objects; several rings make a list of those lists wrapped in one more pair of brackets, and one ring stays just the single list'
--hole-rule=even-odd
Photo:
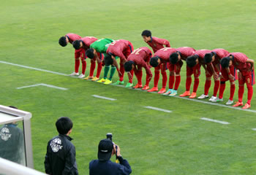
[{"label": "bowing player in red wearing pale blue shoes", "polygon": [[[195,49],[192,47],[178,47],[176,52],[170,55],[170,77],[169,77],[169,90],[164,95],[176,96],[178,86],[181,82],[181,66],[182,61],[186,61],[190,55],[193,55]],[[175,85],[174,85],[175,82]],[[173,89],[174,85],[174,89]]]}]

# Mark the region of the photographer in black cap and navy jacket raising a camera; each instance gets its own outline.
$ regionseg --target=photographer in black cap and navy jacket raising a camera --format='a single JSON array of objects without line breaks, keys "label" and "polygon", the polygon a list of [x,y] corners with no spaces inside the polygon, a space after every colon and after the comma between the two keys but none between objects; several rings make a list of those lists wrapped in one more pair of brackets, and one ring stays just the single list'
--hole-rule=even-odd
[{"label": "photographer in black cap and navy jacket raising a camera", "polygon": [[[115,153],[120,164],[113,163],[110,160]],[[129,166],[128,161],[121,157],[118,145],[113,144],[110,139],[103,139],[99,141],[98,160],[91,160],[89,171],[90,175],[126,175],[132,173],[132,168]]]}]

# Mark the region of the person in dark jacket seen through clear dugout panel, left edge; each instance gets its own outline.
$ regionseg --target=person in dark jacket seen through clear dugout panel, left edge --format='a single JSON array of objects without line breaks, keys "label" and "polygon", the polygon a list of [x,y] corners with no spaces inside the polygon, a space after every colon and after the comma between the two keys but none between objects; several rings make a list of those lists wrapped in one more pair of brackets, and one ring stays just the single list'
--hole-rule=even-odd
[{"label": "person in dark jacket seen through clear dugout panel, left edge", "polygon": [[[15,106],[9,106],[17,109]],[[25,165],[23,131],[18,123],[7,123],[0,128],[0,158]]]}]

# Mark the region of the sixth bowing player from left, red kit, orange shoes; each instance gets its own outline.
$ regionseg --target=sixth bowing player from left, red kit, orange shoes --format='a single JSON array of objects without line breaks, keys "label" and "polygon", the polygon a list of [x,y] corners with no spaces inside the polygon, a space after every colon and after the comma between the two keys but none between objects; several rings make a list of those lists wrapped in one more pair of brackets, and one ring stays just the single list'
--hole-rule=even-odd
[{"label": "sixth bowing player from left, red kit, orange shoes", "polygon": [[165,47],[160,50],[158,50],[154,57],[150,59],[150,65],[154,67],[154,87],[148,90],[148,92],[154,92],[158,91],[158,81],[160,77],[160,69],[162,74],[162,89],[159,90],[158,93],[165,93],[165,87],[167,82],[167,74],[166,69],[169,69],[170,71],[170,55],[176,52],[176,49],[173,49],[171,47]]}]

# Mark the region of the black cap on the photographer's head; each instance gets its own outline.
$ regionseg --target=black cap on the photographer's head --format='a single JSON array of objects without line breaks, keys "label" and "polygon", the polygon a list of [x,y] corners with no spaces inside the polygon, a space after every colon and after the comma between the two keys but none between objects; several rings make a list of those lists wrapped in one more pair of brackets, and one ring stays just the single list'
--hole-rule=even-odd
[{"label": "black cap on the photographer's head", "polygon": [[110,139],[103,139],[99,141],[98,159],[110,160],[113,150],[113,142]]}]

